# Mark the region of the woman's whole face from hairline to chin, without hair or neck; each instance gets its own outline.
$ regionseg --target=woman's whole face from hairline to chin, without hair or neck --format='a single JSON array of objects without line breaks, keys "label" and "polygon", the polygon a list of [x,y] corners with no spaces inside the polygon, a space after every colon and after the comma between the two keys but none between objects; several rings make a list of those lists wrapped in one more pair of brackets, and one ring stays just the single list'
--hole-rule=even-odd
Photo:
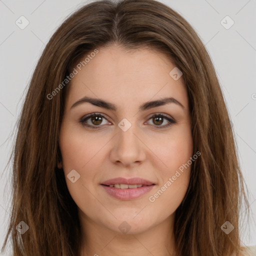
[{"label": "woman's whole face from hairline to chin, without hair or neck", "polygon": [[[76,67],[65,100],[59,146],[67,187],[83,226],[140,233],[172,221],[188,187],[186,88],[158,51],[111,45],[92,55]],[[157,103],[165,98],[173,99]]]}]

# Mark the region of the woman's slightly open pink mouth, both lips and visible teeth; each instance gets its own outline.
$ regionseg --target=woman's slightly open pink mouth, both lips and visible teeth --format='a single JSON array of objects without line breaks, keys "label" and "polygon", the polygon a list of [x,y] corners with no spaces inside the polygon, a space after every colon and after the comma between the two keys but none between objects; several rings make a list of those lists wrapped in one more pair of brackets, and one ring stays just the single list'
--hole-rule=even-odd
[{"label": "woman's slightly open pink mouth, both lips and visible teeth", "polygon": [[102,182],[101,187],[108,195],[120,200],[131,200],[149,192],[155,183],[142,178],[114,178]]}]

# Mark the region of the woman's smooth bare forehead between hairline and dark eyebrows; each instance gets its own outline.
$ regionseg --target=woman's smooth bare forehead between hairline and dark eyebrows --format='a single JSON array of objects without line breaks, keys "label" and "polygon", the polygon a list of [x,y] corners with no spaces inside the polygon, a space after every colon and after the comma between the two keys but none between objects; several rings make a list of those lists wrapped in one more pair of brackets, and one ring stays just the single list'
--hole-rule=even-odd
[{"label": "woman's smooth bare forehead between hairline and dark eyebrows", "polygon": [[149,48],[126,51],[112,45],[98,48],[96,54],[88,52],[82,60],[87,56],[80,70],[75,66],[78,72],[68,85],[69,105],[85,95],[113,99],[116,105],[173,96],[187,105],[183,77],[174,80],[170,76],[175,65],[162,52]]}]

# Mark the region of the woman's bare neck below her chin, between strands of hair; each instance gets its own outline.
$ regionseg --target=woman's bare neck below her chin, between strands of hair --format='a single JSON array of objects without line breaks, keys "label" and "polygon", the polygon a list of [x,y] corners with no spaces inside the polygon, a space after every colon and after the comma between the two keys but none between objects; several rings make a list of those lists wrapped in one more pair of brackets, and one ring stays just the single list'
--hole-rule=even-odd
[{"label": "woman's bare neck below her chin, between strands of hair", "polygon": [[80,218],[80,256],[174,255],[173,217],[142,232],[121,233],[98,225],[84,214]]}]

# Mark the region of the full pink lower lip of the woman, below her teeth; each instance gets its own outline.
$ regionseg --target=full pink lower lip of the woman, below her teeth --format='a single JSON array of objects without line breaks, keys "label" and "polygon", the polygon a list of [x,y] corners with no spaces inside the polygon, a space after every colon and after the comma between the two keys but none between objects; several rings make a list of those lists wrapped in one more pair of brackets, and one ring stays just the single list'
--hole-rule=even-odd
[{"label": "full pink lower lip of the woman, below her teeth", "polygon": [[111,196],[121,200],[131,200],[150,191],[154,185],[140,186],[137,188],[116,188],[111,186],[102,185],[105,191]]}]

